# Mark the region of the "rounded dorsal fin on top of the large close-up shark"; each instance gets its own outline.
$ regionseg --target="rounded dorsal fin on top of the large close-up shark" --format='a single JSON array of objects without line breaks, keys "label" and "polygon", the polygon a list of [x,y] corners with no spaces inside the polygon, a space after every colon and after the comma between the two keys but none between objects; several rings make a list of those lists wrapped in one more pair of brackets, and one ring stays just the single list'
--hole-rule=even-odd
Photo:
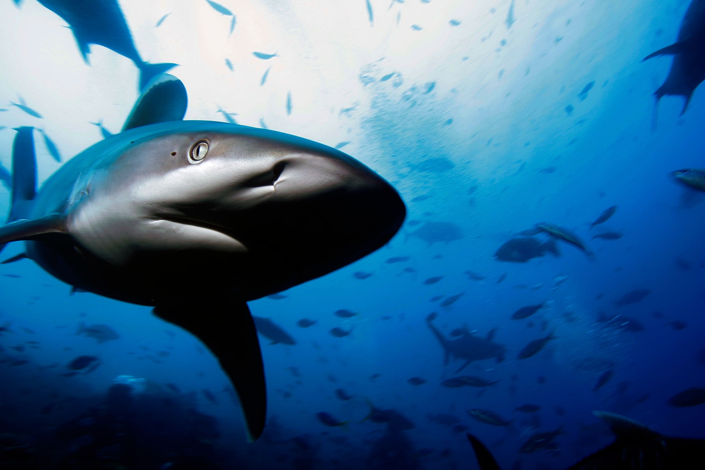
[{"label": "rounded dorsal fin on top of the large close-up shark", "polygon": [[168,73],[157,75],[145,85],[125,120],[123,131],[142,125],[182,120],[187,105],[188,96],[181,80]]}]

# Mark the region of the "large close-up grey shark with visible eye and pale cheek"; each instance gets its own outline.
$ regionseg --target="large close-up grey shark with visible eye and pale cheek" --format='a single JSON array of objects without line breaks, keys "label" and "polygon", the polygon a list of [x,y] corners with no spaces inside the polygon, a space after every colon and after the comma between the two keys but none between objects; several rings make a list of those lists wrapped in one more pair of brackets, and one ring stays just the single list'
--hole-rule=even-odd
[{"label": "large close-up grey shark with visible eye and pale cheek", "polygon": [[13,152],[0,244],[78,290],[154,307],[219,359],[249,437],[266,419],[264,368],[245,303],[382,247],[405,206],[347,154],[272,130],[183,121],[172,75],[150,82],[123,132],[76,155],[35,193],[32,128]]}]

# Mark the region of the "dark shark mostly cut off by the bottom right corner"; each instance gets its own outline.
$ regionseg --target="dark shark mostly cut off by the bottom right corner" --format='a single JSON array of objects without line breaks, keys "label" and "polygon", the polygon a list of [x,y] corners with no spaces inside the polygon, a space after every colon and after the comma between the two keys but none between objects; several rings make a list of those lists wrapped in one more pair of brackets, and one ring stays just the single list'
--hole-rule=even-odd
[{"label": "dark shark mostly cut off by the bottom right corner", "polygon": [[[672,438],[614,413],[593,412],[610,426],[616,439],[565,470],[679,470],[701,467],[705,439]],[[500,470],[491,452],[467,434],[480,470]]]}]

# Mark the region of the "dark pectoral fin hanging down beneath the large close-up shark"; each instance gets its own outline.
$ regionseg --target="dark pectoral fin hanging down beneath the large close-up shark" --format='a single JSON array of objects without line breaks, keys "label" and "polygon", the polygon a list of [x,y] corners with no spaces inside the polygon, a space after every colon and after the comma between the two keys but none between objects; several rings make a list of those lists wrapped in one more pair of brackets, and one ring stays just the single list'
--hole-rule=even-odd
[{"label": "dark pectoral fin hanging down beneath the large close-up shark", "polygon": [[[198,313],[204,310],[210,316]],[[224,299],[207,305],[173,304],[154,307],[154,314],[197,336],[218,358],[240,397],[249,440],[259,438],[266,419],[266,386],[257,330],[247,304]]]}]

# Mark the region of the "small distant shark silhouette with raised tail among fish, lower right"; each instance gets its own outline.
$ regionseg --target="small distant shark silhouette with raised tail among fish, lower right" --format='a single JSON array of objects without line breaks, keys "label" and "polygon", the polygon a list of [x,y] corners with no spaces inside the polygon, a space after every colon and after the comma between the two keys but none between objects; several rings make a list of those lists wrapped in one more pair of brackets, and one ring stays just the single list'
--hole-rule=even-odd
[{"label": "small distant shark silhouette with raised tail among fish, lower right", "polygon": [[474,335],[466,330],[464,335],[449,340],[430,321],[427,321],[427,324],[431,328],[431,333],[434,334],[441,343],[441,347],[443,347],[445,352],[444,366],[447,366],[451,359],[465,359],[465,363],[455,373],[465,369],[472,361],[496,359],[496,361],[501,362],[507,353],[507,348],[504,345],[493,341],[494,330],[491,330],[486,338]]}]

